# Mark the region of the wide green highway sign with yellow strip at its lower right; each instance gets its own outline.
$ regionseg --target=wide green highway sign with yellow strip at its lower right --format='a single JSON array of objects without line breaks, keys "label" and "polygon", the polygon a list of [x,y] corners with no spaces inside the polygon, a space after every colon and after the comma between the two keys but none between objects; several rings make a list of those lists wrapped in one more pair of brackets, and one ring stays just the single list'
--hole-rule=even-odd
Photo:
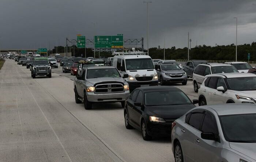
[{"label": "wide green highway sign with yellow strip at its lower right", "polygon": [[94,36],[95,48],[123,48],[123,34],[116,36]]}]

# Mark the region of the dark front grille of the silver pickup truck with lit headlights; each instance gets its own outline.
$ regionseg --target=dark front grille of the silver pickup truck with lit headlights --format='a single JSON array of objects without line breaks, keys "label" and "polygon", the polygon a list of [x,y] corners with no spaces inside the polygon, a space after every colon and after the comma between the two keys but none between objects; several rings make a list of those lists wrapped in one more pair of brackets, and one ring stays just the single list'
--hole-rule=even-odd
[{"label": "dark front grille of the silver pickup truck with lit headlights", "polygon": [[122,84],[99,84],[95,87],[95,93],[121,93],[124,92]]}]

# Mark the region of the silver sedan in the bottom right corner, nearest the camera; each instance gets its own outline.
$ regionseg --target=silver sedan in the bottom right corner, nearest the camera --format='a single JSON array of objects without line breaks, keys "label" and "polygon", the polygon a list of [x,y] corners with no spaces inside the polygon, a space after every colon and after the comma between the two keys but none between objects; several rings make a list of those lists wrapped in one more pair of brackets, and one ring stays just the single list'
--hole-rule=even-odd
[{"label": "silver sedan in the bottom right corner, nearest the camera", "polygon": [[172,124],[176,162],[256,162],[256,106],[193,108]]}]

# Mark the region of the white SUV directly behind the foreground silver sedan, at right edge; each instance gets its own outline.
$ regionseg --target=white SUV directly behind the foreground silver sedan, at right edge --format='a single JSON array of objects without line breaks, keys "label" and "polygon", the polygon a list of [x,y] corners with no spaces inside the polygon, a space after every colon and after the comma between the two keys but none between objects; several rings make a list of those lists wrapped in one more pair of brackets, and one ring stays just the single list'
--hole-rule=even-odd
[{"label": "white SUV directly behind the foreground silver sedan, at right edge", "polygon": [[225,73],[207,75],[198,90],[199,106],[218,103],[256,104],[256,75]]}]

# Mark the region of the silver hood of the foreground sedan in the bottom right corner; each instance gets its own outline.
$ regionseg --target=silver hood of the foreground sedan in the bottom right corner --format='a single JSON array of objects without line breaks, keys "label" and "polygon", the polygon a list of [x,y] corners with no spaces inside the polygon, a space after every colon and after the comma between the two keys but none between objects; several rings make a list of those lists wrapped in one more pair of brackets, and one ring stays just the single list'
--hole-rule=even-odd
[{"label": "silver hood of the foreground sedan in the bottom right corner", "polygon": [[235,143],[229,142],[231,149],[246,155],[249,158],[256,160],[256,143]]}]

